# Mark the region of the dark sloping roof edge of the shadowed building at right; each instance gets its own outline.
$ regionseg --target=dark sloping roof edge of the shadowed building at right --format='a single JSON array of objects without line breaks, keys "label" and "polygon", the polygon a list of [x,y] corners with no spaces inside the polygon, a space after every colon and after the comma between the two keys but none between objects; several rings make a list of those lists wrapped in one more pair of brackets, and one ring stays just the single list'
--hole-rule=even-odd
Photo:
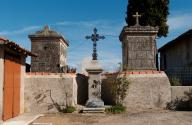
[{"label": "dark sloping roof edge of the shadowed building at right", "polygon": [[187,32],[181,34],[179,37],[177,37],[176,39],[168,42],[167,44],[165,44],[164,46],[162,46],[161,48],[158,49],[158,52],[161,52],[164,49],[169,48],[170,46],[174,45],[175,43],[179,42],[182,39],[185,38],[192,38],[192,29],[188,30]]}]

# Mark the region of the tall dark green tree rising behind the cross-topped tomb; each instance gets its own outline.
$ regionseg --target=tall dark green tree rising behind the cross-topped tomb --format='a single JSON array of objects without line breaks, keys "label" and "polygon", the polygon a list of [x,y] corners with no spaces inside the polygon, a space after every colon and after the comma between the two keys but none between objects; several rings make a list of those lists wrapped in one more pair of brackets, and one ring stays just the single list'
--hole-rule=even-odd
[{"label": "tall dark green tree rising behind the cross-topped tomb", "polygon": [[128,0],[126,22],[128,26],[135,25],[132,17],[136,12],[141,15],[142,26],[158,26],[158,37],[168,34],[167,16],[169,15],[169,0]]}]

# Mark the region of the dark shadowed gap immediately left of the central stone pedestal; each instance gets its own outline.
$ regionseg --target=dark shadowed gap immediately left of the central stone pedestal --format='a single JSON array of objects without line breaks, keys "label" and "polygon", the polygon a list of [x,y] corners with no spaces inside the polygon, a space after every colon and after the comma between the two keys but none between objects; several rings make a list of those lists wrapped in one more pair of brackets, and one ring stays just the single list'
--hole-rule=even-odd
[{"label": "dark shadowed gap immediately left of the central stone pedestal", "polygon": [[85,105],[88,100],[88,77],[83,74],[77,74],[77,104]]}]

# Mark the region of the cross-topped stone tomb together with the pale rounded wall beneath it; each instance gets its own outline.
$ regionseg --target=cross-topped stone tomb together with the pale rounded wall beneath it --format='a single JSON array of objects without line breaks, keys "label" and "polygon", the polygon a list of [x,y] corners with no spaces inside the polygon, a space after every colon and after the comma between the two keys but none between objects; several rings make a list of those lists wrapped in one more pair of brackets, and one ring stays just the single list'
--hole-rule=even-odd
[{"label": "cross-topped stone tomb together with the pale rounded wall beneath it", "polygon": [[[125,98],[129,108],[165,108],[171,101],[168,77],[156,68],[156,36],[158,27],[140,26],[138,13],[134,26],[125,26],[119,36],[122,41],[123,71],[130,81]],[[133,74],[130,72],[133,71]],[[149,73],[150,72],[150,73]]]}]

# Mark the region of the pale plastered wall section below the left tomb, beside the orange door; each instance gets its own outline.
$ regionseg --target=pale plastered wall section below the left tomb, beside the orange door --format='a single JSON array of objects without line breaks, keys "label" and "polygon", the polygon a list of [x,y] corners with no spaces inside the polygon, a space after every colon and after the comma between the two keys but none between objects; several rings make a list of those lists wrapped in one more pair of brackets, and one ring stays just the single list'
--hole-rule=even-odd
[{"label": "pale plastered wall section below the left tomb, beside the orange door", "polygon": [[77,104],[75,74],[27,74],[25,76],[25,112],[52,113]]}]

